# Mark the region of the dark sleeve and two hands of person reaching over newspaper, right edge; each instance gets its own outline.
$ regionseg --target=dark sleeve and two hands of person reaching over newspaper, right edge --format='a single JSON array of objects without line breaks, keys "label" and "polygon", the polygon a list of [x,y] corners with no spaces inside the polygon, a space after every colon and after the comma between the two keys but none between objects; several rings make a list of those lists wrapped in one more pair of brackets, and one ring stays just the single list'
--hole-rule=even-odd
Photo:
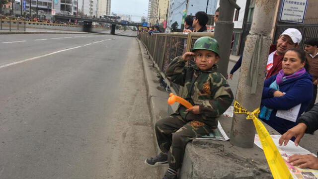
[{"label": "dark sleeve and two hands of person reaching over newspaper, right edge", "polygon": [[[295,137],[295,145],[298,146],[300,140],[305,133],[314,133],[318,129],[318,103],[312,110],[304,113],[297,119],[298,125],[289,129],[279,139],[279,145],[287,145],[288,141]],[[318,169],[318,158],[313,155],[299,155],[295,154],[288,159],[292,165],[299,165],[299,168]]]}]

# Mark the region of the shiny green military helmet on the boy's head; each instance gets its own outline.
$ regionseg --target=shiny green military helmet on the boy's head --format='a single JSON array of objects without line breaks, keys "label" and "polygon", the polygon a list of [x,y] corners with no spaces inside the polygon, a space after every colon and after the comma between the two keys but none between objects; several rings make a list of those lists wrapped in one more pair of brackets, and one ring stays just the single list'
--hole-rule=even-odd
[{"label": "shiny green military helmet on the boy's head", "polygon": [[[219,43],[212,37],[200,37],[198,38],[193,46],[192,52],[194,50],[210,50],[217,55],[220,54],[219,52]],[[220,55],[219,55],[220,56]]]}]

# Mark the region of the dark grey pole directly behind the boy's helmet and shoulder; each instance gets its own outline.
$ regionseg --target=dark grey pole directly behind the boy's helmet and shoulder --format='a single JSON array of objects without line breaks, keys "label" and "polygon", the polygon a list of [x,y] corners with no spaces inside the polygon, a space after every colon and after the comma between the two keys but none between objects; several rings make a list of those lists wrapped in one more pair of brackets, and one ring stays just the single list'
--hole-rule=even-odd
[{"label": "dark grey pole directly behind the boy's helmet and shoulder", "polygon": [[231,52],[231,42],[233,34],[233,15],[234,8],[240,7],[236,4],[236,0],[220,0],[219,20],[216,22],[214,37],[219,42],[221,60],[219,61],[219,72],[223,76],[228,74],[228,66]]}]

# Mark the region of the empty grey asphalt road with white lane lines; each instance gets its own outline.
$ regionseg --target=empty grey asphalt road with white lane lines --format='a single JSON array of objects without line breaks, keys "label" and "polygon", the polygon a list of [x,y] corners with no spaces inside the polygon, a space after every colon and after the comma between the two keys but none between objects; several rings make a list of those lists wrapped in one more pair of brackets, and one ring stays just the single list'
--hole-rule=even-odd
[{"label": "empty grey asphalt road with white lane lines", "polygon": [[0,179],[158,176],[143,165],[155,152],[135,38],[0,35],[0,47]]}]

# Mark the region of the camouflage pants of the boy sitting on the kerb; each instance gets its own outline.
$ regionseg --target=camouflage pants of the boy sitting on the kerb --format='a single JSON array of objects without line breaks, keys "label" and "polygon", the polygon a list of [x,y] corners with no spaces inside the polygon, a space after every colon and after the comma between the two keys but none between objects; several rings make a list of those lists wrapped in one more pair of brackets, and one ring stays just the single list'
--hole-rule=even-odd
[{"label": "camouflage pants of the boy sitting on the kerb", "polygon": [[209,134],[212,129],[203,122],[186,121],[180,115],[172,114],[156,122],[155,132],[160,150],[168,154],[169,167],[177,170],[181,167],[186,144]]}]

